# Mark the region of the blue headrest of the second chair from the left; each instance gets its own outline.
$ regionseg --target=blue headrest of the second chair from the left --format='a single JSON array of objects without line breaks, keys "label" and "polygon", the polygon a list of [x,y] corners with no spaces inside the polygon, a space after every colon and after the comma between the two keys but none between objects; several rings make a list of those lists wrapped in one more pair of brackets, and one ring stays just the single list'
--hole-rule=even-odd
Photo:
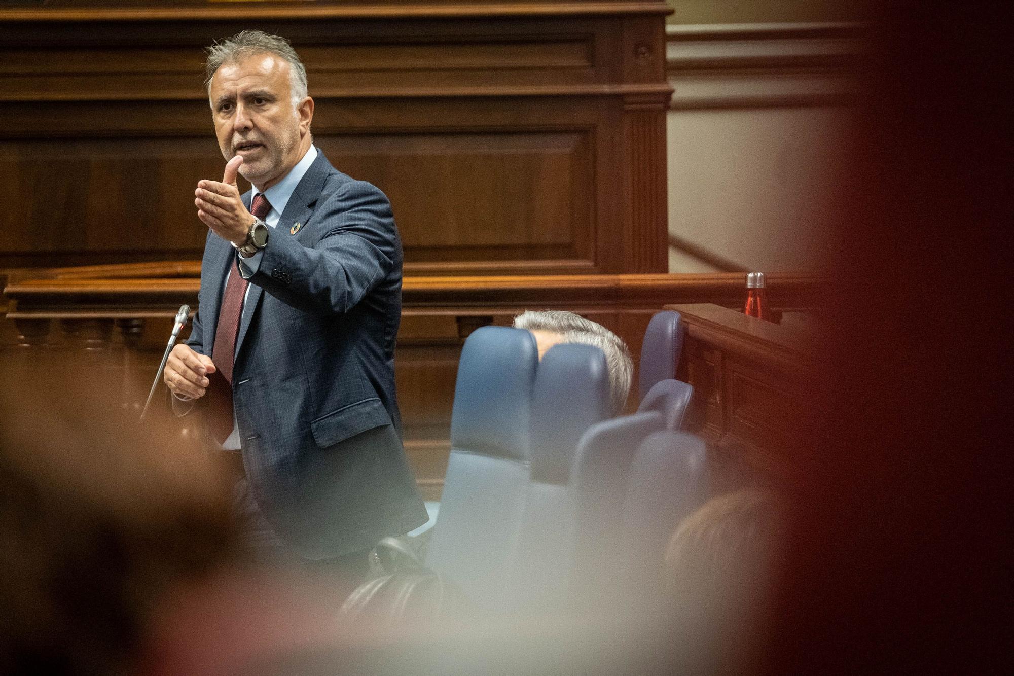
[{"label": "blue headrest of the second chair from the left", "polygon": [[574,344],[551,348],[535,375],[531,479],[566,484],[582,434],[609,413],[609,371],[602,350]]}]

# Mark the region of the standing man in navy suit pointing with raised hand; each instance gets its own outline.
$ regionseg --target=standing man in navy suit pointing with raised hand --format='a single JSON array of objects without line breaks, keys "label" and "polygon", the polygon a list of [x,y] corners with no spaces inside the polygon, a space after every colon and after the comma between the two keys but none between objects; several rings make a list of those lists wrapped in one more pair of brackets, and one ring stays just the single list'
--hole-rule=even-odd
[{"label": "standing man in navy suit pointing with raised hand", "polygon": [[228,162],[195,191],[209,227],[200,306],[164,381],[177,413],[205,409],[256,551],[362,573],[377,540],[426,521],[394,397],[390,204],[313,146],[313,99],[287,41],[246,30],[208,52]]}]

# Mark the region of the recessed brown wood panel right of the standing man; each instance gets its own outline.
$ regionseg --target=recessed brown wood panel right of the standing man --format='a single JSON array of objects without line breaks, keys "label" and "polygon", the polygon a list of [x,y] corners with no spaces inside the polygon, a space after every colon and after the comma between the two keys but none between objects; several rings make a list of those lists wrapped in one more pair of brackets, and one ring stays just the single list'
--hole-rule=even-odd
[{"label": "recessed brown wood panel right of the standing man", "polygon": [[412,261],[588,258],[591,144],[552,131],[318,137],[387,194]]}]

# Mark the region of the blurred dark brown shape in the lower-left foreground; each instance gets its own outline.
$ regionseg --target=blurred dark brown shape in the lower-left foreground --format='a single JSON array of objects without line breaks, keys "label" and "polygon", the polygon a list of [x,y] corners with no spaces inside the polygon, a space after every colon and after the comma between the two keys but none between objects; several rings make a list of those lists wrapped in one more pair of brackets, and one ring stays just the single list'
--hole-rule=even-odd
[{"label": "blurred dark brown shape in the lower-left foreground", "polygon": [[166,596],[234,562],[228,492],[120,379],[50,366],[0,376],[0,672],[127,673]]}]

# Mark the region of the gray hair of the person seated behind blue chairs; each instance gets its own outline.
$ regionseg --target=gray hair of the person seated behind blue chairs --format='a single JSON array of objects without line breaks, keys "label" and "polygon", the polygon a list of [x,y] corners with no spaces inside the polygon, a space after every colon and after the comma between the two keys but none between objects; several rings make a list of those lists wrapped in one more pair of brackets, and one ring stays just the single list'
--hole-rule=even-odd
[{"label": "gray hair of the person seated behind blue chairs", "polygon": [[609,369],[609,401],[613,415],[624,410],[631,391],[634,360],[620,336],[601,324],[564,310],[527,310],[514,318],[514,327],[527,331],[550,331],[563,337],[561,342],[592,345],[605,354]]}]

